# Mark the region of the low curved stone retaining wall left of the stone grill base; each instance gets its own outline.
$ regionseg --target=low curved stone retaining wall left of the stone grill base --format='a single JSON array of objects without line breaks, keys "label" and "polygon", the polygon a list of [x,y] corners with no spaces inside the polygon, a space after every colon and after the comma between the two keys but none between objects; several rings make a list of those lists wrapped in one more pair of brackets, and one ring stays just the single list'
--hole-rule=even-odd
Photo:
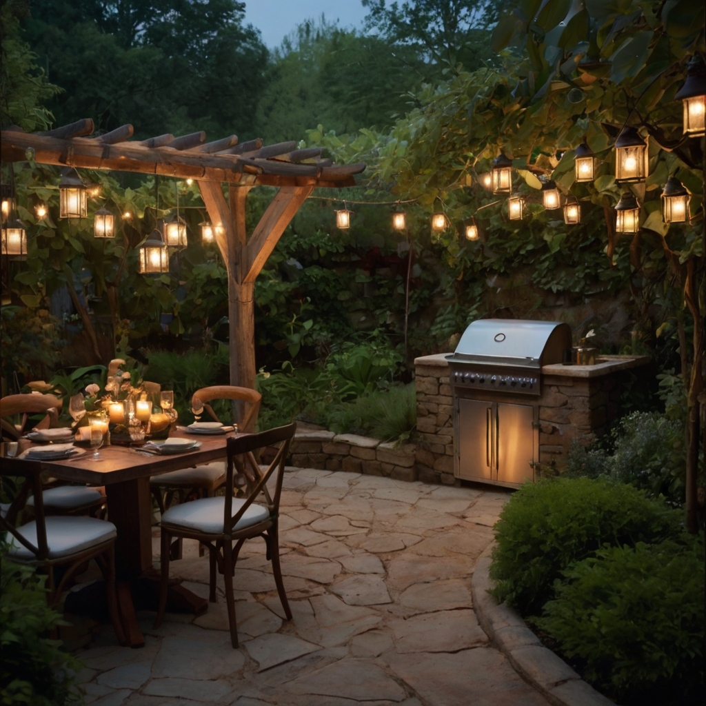
[{"label": "low curved stone retaining wall left of the stone grill base", "polygon": [[412,444],[395,448],[392,443],[383,443],[367,436],[302,430],[294,436],[289,449],[289,462],[300,468],[348,471],[399,481],[415,481],[415,450]]}]

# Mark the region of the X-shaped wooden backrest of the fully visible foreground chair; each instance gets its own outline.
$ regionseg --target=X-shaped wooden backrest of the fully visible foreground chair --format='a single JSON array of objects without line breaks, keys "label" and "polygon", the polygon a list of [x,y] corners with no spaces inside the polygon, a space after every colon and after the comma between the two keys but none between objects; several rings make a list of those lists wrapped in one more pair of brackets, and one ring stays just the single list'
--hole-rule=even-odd
[{"label": "X-shaped wooden backrest of the fully visible foreground chair", "polygon": [[[225,508],[223,515],[223,534],[231,534],[232,528],[245,514],[245,511],[252,505],[260,493],[265,496],[270,517],[276,517],[280,512],[280,495],[282,494],[282,478],[285,473],[285,462],[289,453],[289,445],[292,443],[294,431],[297,430],[297,422],[286,426],[277,426],[275,429],[261,431],[257,434],[246,436],[234,436],[227,441],[228,465],[226,473],[225,488]],[[253,451],[265,446],[273,446],[280,443],[273,461],[263,472],[258,465]],[[233,484],[234,468],[245,475],[248,480],[248,497],[238,512],[233,515]],[[277,472],[275,479],[275,489],[272,494],[267,486],[267,482],[273,473]]]}]

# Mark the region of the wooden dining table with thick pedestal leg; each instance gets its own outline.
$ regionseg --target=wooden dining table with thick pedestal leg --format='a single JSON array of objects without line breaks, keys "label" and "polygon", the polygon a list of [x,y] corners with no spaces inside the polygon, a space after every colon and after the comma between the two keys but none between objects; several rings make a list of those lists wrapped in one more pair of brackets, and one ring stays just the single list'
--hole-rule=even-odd
[{"label": "wooden dining table with thick pedestal leg", "polygon": [[[205,436],[179,430],[170,437],[188,438],[201,442],[201,447],[170,455],[141,451],[138,446],[109,445],[100,449],[94,458],[92,450],[66,459],[53,461],[25,460],[8,457],[3,445],[4,473],[23,475],[40,469],[48,476],[76,483],[104,486],[108,502],[109,520],[117,530],[115,546],[116,576],[121,618],[128,644],[144,645],[144,638],[135,614],[132,591],[138,580],[154,583],[157,571],[152,568],[152,496],[150,477],[169,471],[203,465],[226,457],[226,439],[234,432]],[[33,445],[20,441],[18,455]],[[180,587],[181,588],[181,587]],[[183,588],[179,591],[181,604],[186,603],[196,612],[205,611],[208,602]]]}]

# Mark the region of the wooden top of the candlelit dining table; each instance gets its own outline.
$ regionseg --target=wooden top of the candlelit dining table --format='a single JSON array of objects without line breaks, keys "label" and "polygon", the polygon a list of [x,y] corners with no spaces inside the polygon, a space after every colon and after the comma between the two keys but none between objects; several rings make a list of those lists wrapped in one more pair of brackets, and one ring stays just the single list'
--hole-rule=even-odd
[{"label": "wooden top of the candlelit dining table", "polygon": [[[110,445],[103,446],[100,449],[100,457],[96,459],[93,458],[90,448],[87,448],[84,454],[56,461],[28,461],[4,457],[2,472],[4,475],[23,475],[38,468],[42,472],[65,481],[109,485],[225,459],[226,439],[231,436],[245,435],[230,432],[205,436],[176,431],[169,436],[201,441],[201,448],[185,453],[160,456],[140,453],[139,447]],[[20,452],[35,445],[39,444],[20,441]]]}]

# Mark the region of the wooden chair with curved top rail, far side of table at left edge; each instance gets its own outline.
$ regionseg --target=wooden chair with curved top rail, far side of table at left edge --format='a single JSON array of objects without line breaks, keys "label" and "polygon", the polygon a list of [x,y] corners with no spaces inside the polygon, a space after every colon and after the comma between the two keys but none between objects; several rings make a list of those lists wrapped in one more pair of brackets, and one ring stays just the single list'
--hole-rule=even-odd
[{"label": "wooden chair with curved top rail, far side of table at left edge", "polygon": [[[59,426],[59,412],[63,401],[54,395],[29,393],[23,395],[8,395],[0,398],[0,419],[3,430],[8,436],[20,438],[27,424],[28,415],[37,412],[47,412],[47,416],[35,425],[35,429],[54,429]],[[11,424],[6,417],[22,414],[19,428]],[[14,435],[13,433],[14,432]],[[80,515],[94,514],[105,505],[105,495],[97,488],[88,486],[61,485],[58,483],[44,484],[42,493],[44,508],[50,515]],[[29,498],[27,507],[33,508],[35,496]]]}]

